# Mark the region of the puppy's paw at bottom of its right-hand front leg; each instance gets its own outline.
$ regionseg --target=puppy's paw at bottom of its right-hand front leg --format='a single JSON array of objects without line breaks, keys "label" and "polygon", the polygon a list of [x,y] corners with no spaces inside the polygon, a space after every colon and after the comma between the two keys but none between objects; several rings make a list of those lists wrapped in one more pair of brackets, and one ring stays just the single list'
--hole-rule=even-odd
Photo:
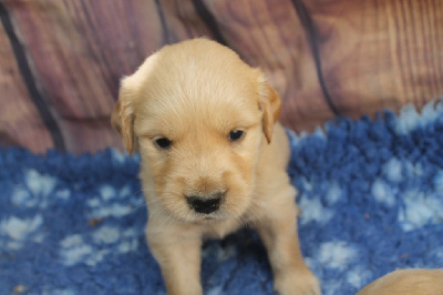
[{"label": "puppy's paw at bottom of its right-hand front leg", "polygon": [[321,295],[320,284],[310,271],[279,275],[275,289],[280,295]]}]

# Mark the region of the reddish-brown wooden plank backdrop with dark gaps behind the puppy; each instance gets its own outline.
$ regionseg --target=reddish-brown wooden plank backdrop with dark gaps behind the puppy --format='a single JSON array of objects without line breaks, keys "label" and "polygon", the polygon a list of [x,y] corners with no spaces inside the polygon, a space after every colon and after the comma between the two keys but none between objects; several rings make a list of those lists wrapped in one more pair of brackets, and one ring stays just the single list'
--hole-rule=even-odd
[{"label": "reddish-brown wooden plank backdrop with dark gaps behind the puppy", "polygon": [[0,0],[0,145],[122,149],[119,80],[206,35],[260,67],[281,121],[312,131],[443,94],[442,0]]}]

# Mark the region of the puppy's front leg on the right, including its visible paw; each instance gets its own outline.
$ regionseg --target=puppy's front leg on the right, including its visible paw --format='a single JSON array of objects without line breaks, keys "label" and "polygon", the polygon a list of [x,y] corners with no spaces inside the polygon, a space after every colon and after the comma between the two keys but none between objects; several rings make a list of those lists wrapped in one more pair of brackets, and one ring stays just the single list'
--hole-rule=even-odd
[{"label": "puppy's front leg on the right, including its visible paw", "polygon": [[287,200],[286,204],[281,203],[278,208],[270,211],[257,228],[272,267],[274,287],[282,295],[321,294],[317,278],[301,255],[297,205],[293,197]]}]

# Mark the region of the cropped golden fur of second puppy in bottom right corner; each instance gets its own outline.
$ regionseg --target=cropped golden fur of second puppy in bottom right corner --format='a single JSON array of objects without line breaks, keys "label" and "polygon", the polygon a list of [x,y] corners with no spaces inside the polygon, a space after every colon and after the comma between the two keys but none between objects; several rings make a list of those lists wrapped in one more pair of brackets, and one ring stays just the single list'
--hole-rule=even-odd
[{"label": "cropped golden fur of second puppy in bottom right corner", "polygon": [[395,271],[372,282],[358,295],[443,295],[443,269]]}]

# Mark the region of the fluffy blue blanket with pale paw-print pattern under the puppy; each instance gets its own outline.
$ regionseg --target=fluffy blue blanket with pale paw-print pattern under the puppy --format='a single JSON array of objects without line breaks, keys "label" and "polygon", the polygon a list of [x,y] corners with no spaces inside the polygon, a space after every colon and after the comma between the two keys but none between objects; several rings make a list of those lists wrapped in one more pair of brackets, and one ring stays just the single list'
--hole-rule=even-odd
[{"label": "fluffy blue blanket with pale paw-print pattern under the puppy", "polygon": [[[300,240],[324,294],[443,266],[443,104],[291,135]],[[144,242],[138,157],[0,151],[0,294],[164,294]],[[253,231],[208,242],[206,294],[271,294]]]}]

